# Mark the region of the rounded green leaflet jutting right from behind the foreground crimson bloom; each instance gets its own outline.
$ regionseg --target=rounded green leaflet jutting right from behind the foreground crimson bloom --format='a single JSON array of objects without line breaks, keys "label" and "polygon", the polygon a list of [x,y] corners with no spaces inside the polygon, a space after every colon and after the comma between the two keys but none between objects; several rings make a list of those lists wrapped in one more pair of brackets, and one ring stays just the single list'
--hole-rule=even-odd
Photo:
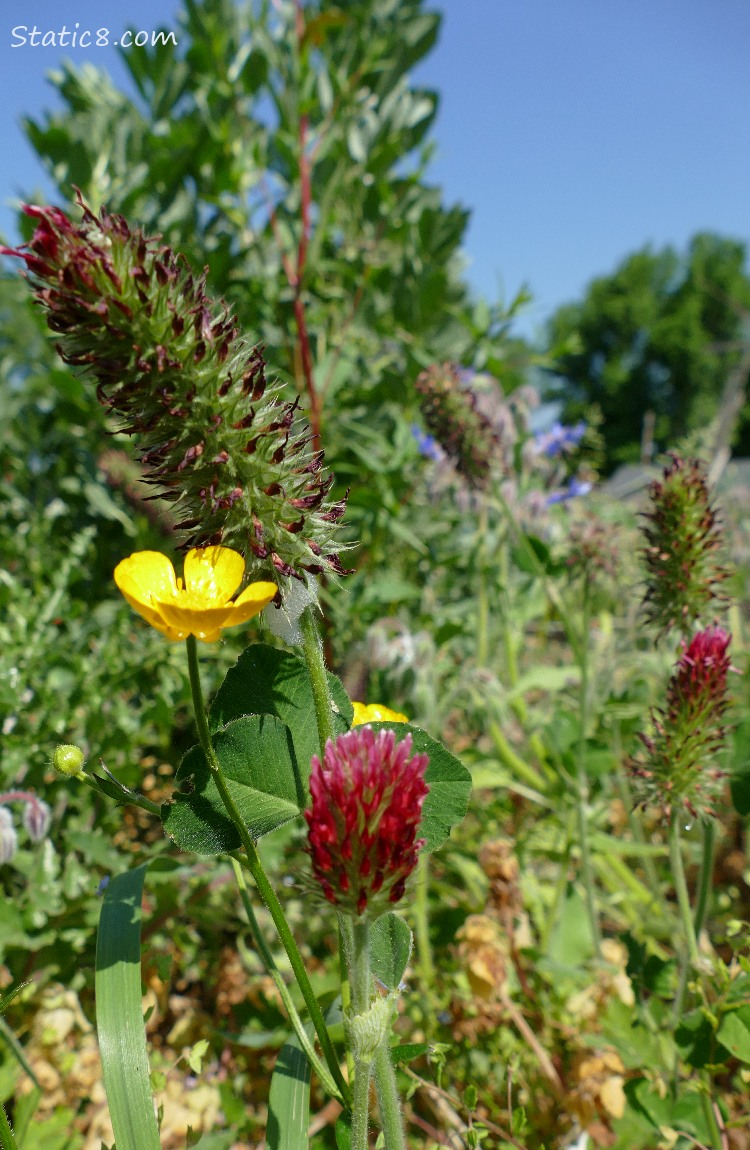
[{"label": "rounded green leaflet jutting right from behind the foreground crimson bloom", "polygon": [[412,753],[429,756],[424,780],[430,790],[422,807],[419,837],[426,839],[422,850],[438,850],[466,814],[472,793],[469,772],[442,743],[412,723],[374,722],[370,726],[373,730],[395,731],[399,741],[411,734]]}]

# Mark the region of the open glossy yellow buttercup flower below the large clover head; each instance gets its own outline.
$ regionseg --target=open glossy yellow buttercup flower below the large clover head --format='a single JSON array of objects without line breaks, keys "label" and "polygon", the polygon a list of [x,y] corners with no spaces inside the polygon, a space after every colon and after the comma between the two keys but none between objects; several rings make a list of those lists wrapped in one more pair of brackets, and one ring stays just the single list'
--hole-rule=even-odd
[{"label": "open glossy yellow buttercup flower below the large clover head", "polygon": [[251,583],[232,601],[245,560],[231,547],[193,547],[185,555],[184,584],[160,551],[136,551],[115,567],[115,583],[139,615],[169,639],[194,635],[214,643],[224,627],[238,627],[268,606],[275,583]]}]

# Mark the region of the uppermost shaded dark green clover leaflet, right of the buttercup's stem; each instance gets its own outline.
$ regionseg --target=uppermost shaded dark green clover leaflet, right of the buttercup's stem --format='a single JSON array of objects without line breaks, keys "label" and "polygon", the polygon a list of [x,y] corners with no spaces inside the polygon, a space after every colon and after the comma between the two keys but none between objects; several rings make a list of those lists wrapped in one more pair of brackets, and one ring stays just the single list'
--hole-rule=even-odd
[{"label": "uppermost shaded dark green clover leaflet, right of the buttercup's stem", "polygon": [[[336,735],[349,730],[352,704],[340,681],[328,676],[334,705]],[[240,715],[276,715],[292,733],[294,754],[305,789],[309,776],[309,760],[320,754],[317,721],[313,688],[305,662],[289,651],[280,651],[266,643],[246,647],[231,667],[211,705],[208,723],[212,730],[238,719]]]}]

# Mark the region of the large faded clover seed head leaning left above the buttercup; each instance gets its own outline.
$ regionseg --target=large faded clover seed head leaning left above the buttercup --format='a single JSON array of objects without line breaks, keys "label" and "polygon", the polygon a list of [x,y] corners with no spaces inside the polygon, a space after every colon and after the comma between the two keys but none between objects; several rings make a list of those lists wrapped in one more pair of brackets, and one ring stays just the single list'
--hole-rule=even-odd
[{"label": "large faded clover seed head leaning left above the buttercup", "polygon": [[297,402],[266,381],[260,348],[159,237],[79,206],[75,224],[59,208],[26,205],[31,240],[0,253],[25,261],[60,355],[135,437],[146,481],[189,532],[185,546],[232,546],[280,585],[346,574],[334,538],[345,499],[326,501],[323,453]]}]

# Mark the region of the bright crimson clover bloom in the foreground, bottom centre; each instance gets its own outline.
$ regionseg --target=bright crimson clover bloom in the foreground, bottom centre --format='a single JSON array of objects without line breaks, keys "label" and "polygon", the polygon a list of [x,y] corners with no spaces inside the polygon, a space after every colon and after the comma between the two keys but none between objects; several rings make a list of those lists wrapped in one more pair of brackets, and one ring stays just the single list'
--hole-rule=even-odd
[{"label": "bright crimson clover bloom in the foreground, bottom centre", "polygon": [[313,873],[329,903],[377,918],[404,895],[416,866],[428,757],[412,736],[354,727],[313,756],[305,811]]}]

